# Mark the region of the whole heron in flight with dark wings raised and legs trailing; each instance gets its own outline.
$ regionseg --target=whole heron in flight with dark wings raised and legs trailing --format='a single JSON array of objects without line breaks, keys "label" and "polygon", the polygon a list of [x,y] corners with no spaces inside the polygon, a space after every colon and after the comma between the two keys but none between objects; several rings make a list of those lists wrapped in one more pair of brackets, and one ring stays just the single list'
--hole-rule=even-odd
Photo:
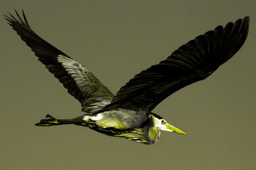
[{"label": "whole heron in flight with dark wings raised and legs trailing", "polygon": [[46,115],[36,126],[75,124],[100,133],[144,144],[158,141],[160,131],[185,134],[152,110],[175,91],[210,76],[241,48],[249,17],[228,22],[182,45],[166,60],[135,75],[114,95],[86,67],[40,38],[15,10],[4,15],[9,25],[31,47],[38,60],[77,99],[84,114],[72,119]]}]

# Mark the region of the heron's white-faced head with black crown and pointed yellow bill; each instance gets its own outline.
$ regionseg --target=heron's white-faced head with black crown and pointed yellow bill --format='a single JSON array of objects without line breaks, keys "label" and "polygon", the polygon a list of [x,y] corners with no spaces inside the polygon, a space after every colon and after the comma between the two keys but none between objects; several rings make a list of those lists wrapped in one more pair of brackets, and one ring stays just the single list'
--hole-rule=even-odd
[{"label": "heron's white-faced head with black crown and pointed yellow bill", "polygon": [[173,125],[168,124],[161,116],[151,113],[150,118],[152,119],[154,127],[158,128],[162,131],[168,131],[168,132],[176,132],[185,135],[186,133],[182,130],[174,127]]}]

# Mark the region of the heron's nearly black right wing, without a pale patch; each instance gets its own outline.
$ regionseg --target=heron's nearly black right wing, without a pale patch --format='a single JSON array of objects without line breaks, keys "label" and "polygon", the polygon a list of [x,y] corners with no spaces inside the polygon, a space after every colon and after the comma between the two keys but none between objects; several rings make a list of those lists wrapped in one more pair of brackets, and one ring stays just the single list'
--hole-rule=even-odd
[{"label": "heron's nearly black right wing, without a pale patch", "polygon": [[212,74],[241,48],[248,34],[249,17],[218,26],[182,45],[166,60],[140,72],[117,92],[104,109],[122,107],[152,111],[175,91]]}]

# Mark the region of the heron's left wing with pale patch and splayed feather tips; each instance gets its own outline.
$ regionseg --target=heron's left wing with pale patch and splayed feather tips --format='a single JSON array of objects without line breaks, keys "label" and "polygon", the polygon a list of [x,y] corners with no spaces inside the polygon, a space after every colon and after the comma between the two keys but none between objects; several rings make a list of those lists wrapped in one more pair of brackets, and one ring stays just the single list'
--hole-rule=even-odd
[{"label": "heron's left wing with pale patch and splayed feather tips", "polygon": [[81,103],[82,111],[91,114],[110,104],[114,94],[108,88],[87,68],[40,38],[30,28],[24,11],[24,20],[17,12],[16,14],[19,20],[11,14],[11,17],[5,15],[9,25],[31,47],[38,60],[45,64],[68,92]]}]

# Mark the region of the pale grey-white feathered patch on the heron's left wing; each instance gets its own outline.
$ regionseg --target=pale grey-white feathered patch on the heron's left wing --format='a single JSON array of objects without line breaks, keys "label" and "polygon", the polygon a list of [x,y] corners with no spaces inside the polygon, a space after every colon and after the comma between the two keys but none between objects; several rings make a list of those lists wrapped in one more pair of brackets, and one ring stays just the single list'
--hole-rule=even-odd
[{"label": "pale grey-white feathered patch on the heron's left wing", "polygon": [[87,113],[95,112],[102,109],[105,105],[110,104],[114,94],[89,69],[63,55],[58,55],[57,60],[74,79],[77,87],[84,94],[80,101],[83,111]]}]

